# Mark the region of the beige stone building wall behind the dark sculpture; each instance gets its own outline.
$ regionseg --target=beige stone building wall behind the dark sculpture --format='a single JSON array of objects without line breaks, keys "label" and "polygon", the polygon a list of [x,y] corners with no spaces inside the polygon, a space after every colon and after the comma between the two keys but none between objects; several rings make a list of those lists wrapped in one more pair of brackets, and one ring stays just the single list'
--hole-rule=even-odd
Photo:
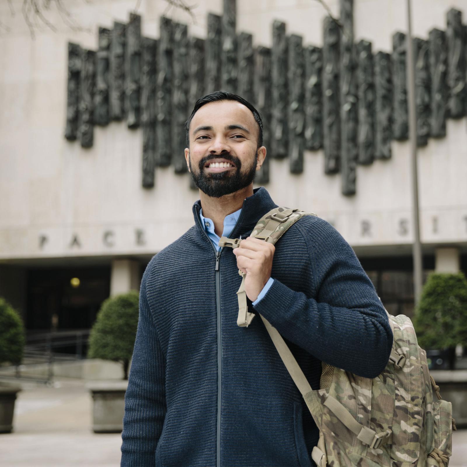
[{"label": "beige stone building wall behind the dark sculpture", "polygon": [[[94,129],[94,146],[82,149],[64,139],[67,42],[96,48],[98,26],[127,21],[134,0],[70,2],[76,21],[90,32],[43,28],[32,40],[21,18],[0,4],[0,21],[11,28],[0,35],[0,260],[81,255],[153,254],[193,225],[191,205],[198,193],[173,168],[158,169],[155,188],[141,186],[142,131],[113,122]],[[338,1],[327,0],[334,14]],[[357,39],[374,50],[391,48],[391,34],[405,29],[404,0],[355,0]],[[238,31],[270,46],[273,19],[322,45],[323,7],[314,0],[238,0]],[[221,13],[222,2],[198,2],[196,24],[169,11],[205,37],[207,11]],[[413,1],[414,32],[427,38],[432,27],[446,27],[450,7],[463,0]],[[143,34],[158,36],[162,0],[142,1]],[[267,189],[276,203],[316,212],[332,221],[353,246],[408,244],[411,195],[408,142],[393,143],[393,157],[357,169],[357,194],[340,194],[340,176],[324,174],[322,151],[305,152],[304,173],[295,176],[288,161],[271,161]],[[422,240],[467,245],[466,119],[448,120],[447,137],[419,149]],[[163,215],[156,214],[163,209]],[[110,233],[109,233],[110,232]],[[73,241],[76,237],[76,240]],[[79,246],[78,246],[79,244]]]}]

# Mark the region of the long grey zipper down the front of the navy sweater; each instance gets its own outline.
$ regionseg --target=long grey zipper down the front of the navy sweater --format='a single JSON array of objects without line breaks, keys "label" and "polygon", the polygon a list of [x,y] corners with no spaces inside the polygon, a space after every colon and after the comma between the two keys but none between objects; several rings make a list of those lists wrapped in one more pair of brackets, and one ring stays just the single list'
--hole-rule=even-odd
[{"label": "long grey zipper down the front of the navy sweater", "polygon": [[[233,226],[232,232],[235,231],[236,227],[239,225],[241,216],[243,214],[243,209],[240,213],[235,226]],[[198,224],[201,227],[201,230],[207,237],[207,240],[211,244],[214,254],[216,255],[216,265],[214,267],[215,276],[216,276],[216,314],[217,314],[217,430],[216,430],[216,467],[220,467],[220,398],[221,398],[221,370],[222,370],[222,335],[221,335],[221,326],[220,326],[220,254],[224,248],[220,248],[220,251],[217,251],[216,247],[213,245],[209,235],[206,233],[204,227],[201,225],[201,219],[199,219],[199,213],[196,216]]]}]

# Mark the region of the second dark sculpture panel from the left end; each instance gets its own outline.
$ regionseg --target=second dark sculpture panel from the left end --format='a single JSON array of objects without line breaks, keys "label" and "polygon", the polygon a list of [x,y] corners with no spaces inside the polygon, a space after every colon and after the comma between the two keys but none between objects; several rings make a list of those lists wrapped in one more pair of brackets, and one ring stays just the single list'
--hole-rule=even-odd
[{"label": "second dark sculpture panel from the left end", "polygon": [[96,52],[83,50],[79,87],[79,139],[83,148],[94,141],[94,88],[96,85]]}]

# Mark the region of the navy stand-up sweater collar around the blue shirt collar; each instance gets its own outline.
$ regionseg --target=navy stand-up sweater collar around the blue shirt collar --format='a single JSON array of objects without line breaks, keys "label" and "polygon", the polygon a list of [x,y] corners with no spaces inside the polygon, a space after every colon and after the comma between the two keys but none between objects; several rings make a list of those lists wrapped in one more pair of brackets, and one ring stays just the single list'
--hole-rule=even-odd
[{"label": "navy stand-up sweater collar around the blue shirt collar", "polygon": [[[255,188],[253,194],[245,198],[241,207],[240,218],[233,228],[230,238],[236,238],[240,234],[247,233],[256,225],[259,219],[269,212],[271,209],[277,207],[274,201],[269,196],[268,191],[264,187]],[[193,204],[193,216],[195,218],[195,226],[198,230],[202,230],[199,219],[199,211],[201,210],[201,201],[198,199]]]}]

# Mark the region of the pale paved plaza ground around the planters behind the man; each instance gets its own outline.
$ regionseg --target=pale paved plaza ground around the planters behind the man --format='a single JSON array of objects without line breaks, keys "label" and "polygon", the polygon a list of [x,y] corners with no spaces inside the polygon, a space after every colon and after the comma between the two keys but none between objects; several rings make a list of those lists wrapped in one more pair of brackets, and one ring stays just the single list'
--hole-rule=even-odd
[{"label": "pale paved plaza ground around the planters behind the man", "polygon": [[[47,388],[27,383],[18,394],[14,432],[0,435],[2,467],[118,467],[120,434],[92,432],[92,400],[83,380]],[[467,467],[467,430],[453,435],[450,467]]]}]

